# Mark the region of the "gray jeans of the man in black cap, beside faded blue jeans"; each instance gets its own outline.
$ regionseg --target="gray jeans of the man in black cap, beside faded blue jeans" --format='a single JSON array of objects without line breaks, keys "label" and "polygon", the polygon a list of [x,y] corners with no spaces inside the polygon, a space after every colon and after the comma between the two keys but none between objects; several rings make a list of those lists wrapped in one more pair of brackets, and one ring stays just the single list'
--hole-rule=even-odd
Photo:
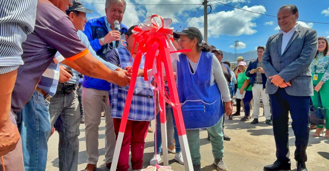
[{"label": "gray jeans of the man in black cap, beside faded blue jeans", "polygon": [[56,93],[50,100],[49,114],[51,126],[59,133],[59,170],[77,171],[81,117],[76,90],[69,94]]}]

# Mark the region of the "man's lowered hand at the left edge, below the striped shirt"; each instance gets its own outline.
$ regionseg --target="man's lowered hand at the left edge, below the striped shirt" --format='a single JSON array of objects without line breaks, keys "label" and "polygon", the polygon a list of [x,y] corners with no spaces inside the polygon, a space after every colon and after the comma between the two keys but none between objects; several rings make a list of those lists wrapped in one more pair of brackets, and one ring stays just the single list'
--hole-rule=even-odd
[{"label": "man's lowered hand at the left edge, below the striped shirt", "polygon": [[20,139],[17,127],[11,122],[0,124],[0,156],[4,156],[16,148]]}]

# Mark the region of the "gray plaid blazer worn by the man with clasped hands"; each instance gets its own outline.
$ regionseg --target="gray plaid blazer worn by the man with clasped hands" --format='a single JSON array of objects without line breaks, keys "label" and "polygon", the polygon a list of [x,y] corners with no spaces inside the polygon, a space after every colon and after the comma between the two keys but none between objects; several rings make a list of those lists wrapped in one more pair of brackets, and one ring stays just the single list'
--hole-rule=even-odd
[{"label": "gray plaid blazer worn by the man with clasped hands", "polygon": [[[262,58],[266,77],[280,75],[291,86],[285,88],[292,96],[313,96],[311,63],[317,51],[316,30],[298,26],[281,55],[282,33],[270,36]],[[279,87],[266,82],[266,93],[274,94]]]}]

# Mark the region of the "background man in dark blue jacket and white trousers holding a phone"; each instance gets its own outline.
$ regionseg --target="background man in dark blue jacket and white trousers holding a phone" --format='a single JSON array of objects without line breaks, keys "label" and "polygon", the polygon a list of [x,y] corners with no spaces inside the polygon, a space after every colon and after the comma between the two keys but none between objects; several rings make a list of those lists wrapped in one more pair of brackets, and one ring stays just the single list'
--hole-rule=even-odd
[{"label": "background man in dark blue jacket and white trousers holding a phone", "polygon": [[261,101],[261,95],[263,99],[264,105],[264,114],[266,117],[266,124],[272,125],[271,122],[271,109],[269,106],[269,96],[265,93],[265,85],[267,78],[264,74],[264,70],[262,68],[262,56],[265,51],[265,47],[259,46],[257,47],[257,55],[258,58],[250,62],[248,68],[246,70],[246,76],[250,77],[250,85],[252,86],[252,95],[254,97],[254,120],[250,124],[258,124],[258,116],[259,116],[259,104]]}]

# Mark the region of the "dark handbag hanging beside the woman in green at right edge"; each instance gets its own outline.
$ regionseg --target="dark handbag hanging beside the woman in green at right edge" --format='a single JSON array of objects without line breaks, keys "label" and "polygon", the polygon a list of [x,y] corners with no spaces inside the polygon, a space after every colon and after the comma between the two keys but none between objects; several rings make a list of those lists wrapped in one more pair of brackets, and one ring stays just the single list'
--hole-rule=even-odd
[{"label": "dark handbag hanging beside the woman in green at right edge", "polygon": [[323,108],[321,97],[320,97],[320,91],[318,93],[318,108],[314,108],[314,106],[311,106],[310,109],[310,123],[315,125],[324,125],[324,115],[326,114],[326,109]]}]

